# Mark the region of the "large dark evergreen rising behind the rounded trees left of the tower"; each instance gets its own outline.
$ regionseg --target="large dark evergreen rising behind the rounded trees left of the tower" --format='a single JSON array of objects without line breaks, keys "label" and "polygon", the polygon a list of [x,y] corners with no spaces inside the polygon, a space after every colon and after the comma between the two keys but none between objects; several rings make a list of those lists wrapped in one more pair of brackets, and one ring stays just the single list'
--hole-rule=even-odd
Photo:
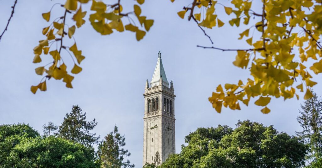
[{"label": "large dark evergreen rising behind the rounded trees left of the tower", "polygon": [[73,105],[71,112],[66,113],[62,125],[59,126],[59,137],[90,146],[99,139],[99,136],[95,137],[95,133],[90,133],[96,125],[95,119],[87,121],[86,112],[83,114],[78,105]]}]

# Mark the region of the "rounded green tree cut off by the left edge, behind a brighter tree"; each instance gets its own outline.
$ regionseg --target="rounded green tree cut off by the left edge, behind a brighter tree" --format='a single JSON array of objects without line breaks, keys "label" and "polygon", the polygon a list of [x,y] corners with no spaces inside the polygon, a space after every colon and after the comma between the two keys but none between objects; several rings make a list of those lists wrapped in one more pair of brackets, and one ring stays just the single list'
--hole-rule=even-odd
[{"label": "rounded green tree cut off by the left edge, behind a brighter tree", "polygon": [[40,134],[28,124],[0,126],[0,168],[13,167],[10,154],[14,147],[25,138],[39,137]]}]

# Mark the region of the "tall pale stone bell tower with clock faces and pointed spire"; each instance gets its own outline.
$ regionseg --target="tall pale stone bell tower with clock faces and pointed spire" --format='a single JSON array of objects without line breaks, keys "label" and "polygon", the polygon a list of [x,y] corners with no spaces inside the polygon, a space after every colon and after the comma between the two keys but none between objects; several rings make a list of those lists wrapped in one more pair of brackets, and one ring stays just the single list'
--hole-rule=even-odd
[{"label": "tall pale stone bell tower with clock faces and pointed spire", "polygon": [[161,52],[151,83],[145,85],[143,164],[153,163],[156,152],[163,163],[169,154],[175,153],[175,94],[164,71]]}]

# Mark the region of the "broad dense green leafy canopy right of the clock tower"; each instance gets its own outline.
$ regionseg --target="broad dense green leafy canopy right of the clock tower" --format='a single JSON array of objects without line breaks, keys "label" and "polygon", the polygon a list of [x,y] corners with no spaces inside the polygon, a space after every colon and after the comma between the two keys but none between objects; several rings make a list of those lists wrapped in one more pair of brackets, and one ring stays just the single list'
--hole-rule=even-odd
[{"label": "broad dense green leafy canopy right of the clock tower", "polygon": [[220,125],[198,128],[185,139],[188,145],[161,167],[301,167],[308,151],[298,137],[249,120],[239,121],[234,130]]}]

